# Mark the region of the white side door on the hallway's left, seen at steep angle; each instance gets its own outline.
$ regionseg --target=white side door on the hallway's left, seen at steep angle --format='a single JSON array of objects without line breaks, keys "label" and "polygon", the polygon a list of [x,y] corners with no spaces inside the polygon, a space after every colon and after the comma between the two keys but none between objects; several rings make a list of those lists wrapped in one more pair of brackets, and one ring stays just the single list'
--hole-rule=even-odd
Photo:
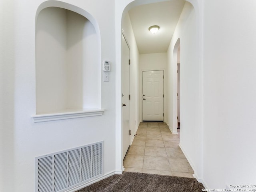
[{"label": "white side door on the hallway's left, seen at steep angle", "polygon": [[130,49],[122,36],[122,150],[130,146]]}]

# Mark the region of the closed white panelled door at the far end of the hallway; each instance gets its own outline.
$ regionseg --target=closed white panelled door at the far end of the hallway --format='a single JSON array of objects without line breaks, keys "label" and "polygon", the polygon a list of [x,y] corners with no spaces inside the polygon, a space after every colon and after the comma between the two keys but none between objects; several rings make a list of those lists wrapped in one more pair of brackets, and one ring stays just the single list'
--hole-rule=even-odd
[{"label": "closed white panelled door at the far end of the hallway", "polygon": [[164,120],[164,71],[142,72],[142,120]]}]

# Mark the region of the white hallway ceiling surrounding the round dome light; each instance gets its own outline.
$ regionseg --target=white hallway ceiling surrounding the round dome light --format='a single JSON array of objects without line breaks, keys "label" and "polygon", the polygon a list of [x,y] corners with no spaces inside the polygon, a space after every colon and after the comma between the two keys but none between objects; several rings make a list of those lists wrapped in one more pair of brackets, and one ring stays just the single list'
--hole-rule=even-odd
[{"label": "white hallway ceiling surrounding the round dome light", "polygon": [[[171,0],[134,7],[129,16],[140,54],[166,52],[180,14],[184,0]],[[156,34],[148,28],[160,26]]]}]

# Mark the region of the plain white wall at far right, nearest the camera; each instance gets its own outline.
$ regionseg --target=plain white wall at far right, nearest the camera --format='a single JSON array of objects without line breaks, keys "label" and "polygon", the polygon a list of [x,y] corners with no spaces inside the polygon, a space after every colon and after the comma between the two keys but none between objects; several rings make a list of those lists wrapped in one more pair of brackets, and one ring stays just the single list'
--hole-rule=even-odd
[{"label": "plain white wall at far right, nearest the camera", "polygon": [[250,0],[204,2],[203,175],[209,188],[256,181],[255,9]]}]

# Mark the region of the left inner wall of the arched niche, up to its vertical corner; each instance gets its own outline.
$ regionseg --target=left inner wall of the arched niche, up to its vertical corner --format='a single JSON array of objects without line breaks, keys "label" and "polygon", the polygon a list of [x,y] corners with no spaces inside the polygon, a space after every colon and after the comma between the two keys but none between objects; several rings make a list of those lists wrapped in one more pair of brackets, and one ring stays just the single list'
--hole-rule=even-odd
[{"label": "left inner wall of the arched niche, up to its vertical corner", "polygon": [[66,109],[67,78],[67,12],[46,8],[36,21],[36,112]]}]

